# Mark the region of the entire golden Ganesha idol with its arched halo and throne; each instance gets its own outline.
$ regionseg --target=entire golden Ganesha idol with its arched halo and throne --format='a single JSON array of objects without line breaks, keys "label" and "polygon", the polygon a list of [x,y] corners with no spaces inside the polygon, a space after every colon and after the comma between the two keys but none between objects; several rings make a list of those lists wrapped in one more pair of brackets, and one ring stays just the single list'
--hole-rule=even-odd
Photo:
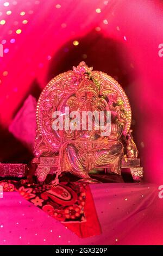
[{"label": "entire golden Ganesha idol with its arched halo and throne", "polygon": [[112,77],[84,62],[54,77],[40,95],[36,121],[33,163],[38,181],[55,174],[52,184],[57,185],[59,176],[69,172],[94,183],[92,170],[121,175],[124,167],[135,181],[141,180],[128,97]]}]

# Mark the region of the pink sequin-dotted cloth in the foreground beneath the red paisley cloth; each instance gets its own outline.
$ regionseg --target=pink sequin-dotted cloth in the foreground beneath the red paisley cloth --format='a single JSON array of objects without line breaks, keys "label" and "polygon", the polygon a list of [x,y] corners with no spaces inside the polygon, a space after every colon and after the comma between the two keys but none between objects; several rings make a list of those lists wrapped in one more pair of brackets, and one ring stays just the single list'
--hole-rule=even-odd
[{"label": "pink sequin-dotted cloth in the foreground beneath the red paisley cloth", "polygon": [[163,199],[152,184],[90,185],[102,235],[80,239],[23,199],[4,192],[0,199],[0,245],[159,245]]}]

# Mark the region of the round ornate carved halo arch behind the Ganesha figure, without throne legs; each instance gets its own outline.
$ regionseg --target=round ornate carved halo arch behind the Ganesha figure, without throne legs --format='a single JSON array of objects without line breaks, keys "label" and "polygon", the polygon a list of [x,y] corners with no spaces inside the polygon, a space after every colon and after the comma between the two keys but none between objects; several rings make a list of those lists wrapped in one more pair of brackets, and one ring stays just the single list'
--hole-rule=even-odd
[{"label": "round ornate carved halo arch behind the Ganesha figure, without throne legs", "polygon": [[118,101],[123,105],[126,111],[126,125],[123,134],[127,135],[131,124],[131,108],[128,97],[120,84],[111,76],[101,71],[92,71],[85,62],[81,62],[73,70],[64,72],[54,77],[43,89],[36,108],[37,135],[35,139],[35,156],[53,156],[57,155],[60,148],[59,133],[52,129],[55,110],[64,112],[64,107],[68,98],[76,93],[78,84],[82,81],[85,73],[91,74],[98,81],[99,94],[105,97],[111,97],[116,94]]}]

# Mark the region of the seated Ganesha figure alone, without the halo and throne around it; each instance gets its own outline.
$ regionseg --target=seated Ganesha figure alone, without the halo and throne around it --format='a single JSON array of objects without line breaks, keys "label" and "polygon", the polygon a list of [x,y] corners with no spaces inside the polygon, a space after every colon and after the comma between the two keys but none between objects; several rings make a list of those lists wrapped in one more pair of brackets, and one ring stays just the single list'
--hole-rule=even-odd
[{"label": "seated Ganesha figure alone, without the halo and throne around it", "polygon": [[[85,123],[69,118],[70,129],[60,132],[61,147],[59,152],[59,167],[55,182],[61,172],[70,172],[86,182],[93,182],[89,172],[99,166],[109,164],[111,172],[121,175],[121,162],[123,157],[123,144],[121,135],[125,124],[125,117],[120,108],[112,107],[99,95],[99,87],[93,78],[84,77],[79,83],[76,94],[71,96],[66,105],[70,111],[82,113],[104,114],[106,124],[106,112],[110,112],[109,131],[104,132],[101,125],[97,129],[97,119],[92,116],[92,129],[88,128],[89,118]],[[72,125],[73,124],[73,125]],[[80,126],[79,126],[80,125]],[[82,127],[85,127],[82,129]],[[78,129],[77,129],[78,128]]]}]

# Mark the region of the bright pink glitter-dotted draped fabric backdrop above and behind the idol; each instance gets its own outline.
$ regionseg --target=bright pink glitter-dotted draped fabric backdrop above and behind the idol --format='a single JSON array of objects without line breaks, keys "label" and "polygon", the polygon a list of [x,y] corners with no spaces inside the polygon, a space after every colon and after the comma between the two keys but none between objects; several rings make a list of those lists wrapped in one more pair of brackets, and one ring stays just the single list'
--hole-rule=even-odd
[{"label": "bright pink glitter-dotted draped fabric backdrop above and behind the idol", "polygon": [[145,179],[162,182],[162,11],[159,0],[0,1],[1,126],[31,92],[84,60],[122,84]]}]

